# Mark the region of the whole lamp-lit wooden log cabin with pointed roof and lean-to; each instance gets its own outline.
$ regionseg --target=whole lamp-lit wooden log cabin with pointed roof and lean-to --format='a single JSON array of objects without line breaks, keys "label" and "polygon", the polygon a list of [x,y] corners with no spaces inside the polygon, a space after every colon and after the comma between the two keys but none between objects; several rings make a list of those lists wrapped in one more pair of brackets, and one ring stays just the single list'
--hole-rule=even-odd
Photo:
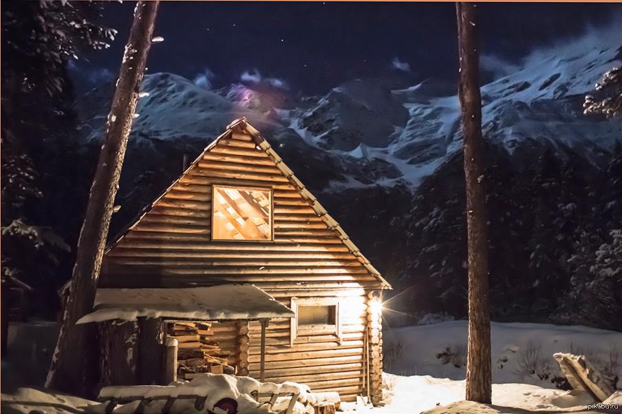
[{"label": "whole lamp-lit wooden log cabin with pointed roof and lean-to", "polygon": [[[192,318],[162,303],[179,305],[185,302],[180,292],[217,285],[254,285],[282,307]],[[107,248],[98,299],[87,318],[100,323],[106,349],[133,338],[136,383],[151,378],[141,370],[165,369],[153,359],[141,363],[141,347],[153,348],[153,338],[163,344],[166,336],[186,336],[187,328],[193,346],[217,348],[217,355],[205,351],[205,358],[219,358],[229,367],[224,372],[300,382],[312,391],[339,392],[344,401],[367,396],[376,404],[382,397],[381,298],[387,288],[268,141],[240,119]],[[150,304],[162,305],[156,313],[144,311],[144,300],[120,297],[149,289],[173,292]],[[185,309],[204,301],[201,294]],[[238,308],[247,303],[235,293],[224,296]],[[137,312],[129,312],[133,308]],[[113,311],[95,317],[102,309]],[[131,323],[103,322],[118,316]],[[114,376],[108,373],[104,382]]]}]

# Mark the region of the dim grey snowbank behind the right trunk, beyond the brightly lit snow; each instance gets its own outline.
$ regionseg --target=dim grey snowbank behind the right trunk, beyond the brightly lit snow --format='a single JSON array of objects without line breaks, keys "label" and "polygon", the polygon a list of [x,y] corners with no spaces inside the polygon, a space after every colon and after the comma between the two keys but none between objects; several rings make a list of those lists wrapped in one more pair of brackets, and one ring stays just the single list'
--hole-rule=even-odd
[{"label": "dim grey snowbank behind the right trunk, beyond the brightly lit snow", "polygon": [[[385,370],[462,380],[467,355],[467,321],[385,329]],[[614,378],[622,378],[622,333],[583,326],[492,323],[493,382],[524,382],[555,388],[555,352],[584,353]],[[401,345],[400,345],[401,344]],[[449,351],[449,352],[448,352]],[[439,354],[442,354],[440,357]],[[531,372],[533,369],[533,373]],[[618,387],[622,389],[622,381]]]}]

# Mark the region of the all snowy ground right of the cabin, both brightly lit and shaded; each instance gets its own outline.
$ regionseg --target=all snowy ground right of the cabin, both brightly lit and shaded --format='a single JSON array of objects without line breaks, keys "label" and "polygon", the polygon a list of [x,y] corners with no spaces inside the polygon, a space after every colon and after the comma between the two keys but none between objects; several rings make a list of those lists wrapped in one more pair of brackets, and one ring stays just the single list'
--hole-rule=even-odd
[{"label": "all snowy ground right of the cabin, both brightly lit and shaded", "polygon": [[[385,329],[385,371],[393,373],[384,375],[385,406],[344,408],[352,413],[588,412],[594,401],[587,393],[555,387],[561,374],[553,353],[564,350],[585,353],[610,378],[622,378],[622,333],[537,323],[493,322],[491,328],[493,405],[463,401],[467,321],[452,320]],[[622,380],[617,386],[622,388]],[[610,402],[621,404],[622,394]]]}]

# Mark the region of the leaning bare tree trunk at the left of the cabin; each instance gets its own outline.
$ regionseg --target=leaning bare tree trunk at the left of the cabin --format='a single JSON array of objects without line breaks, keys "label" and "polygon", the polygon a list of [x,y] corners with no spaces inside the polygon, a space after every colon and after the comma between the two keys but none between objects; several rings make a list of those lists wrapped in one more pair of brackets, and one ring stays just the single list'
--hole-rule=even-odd
[{"label": "leaning bare tree trunk at the left of the cabin", "polygon": [[86,395],[96,381],[94,369],[98,347],[94,345],[94,324],[76,325],[76,321],[91,311],[114,198],[127,138],[136,112],[138,91],[147,54],[151,47],[153,26],[158,12],[158,1],[139,1],[125,46],[116,91],[108,116],[103,142],[84,224],[78,239],[76,265],[69,287],[69,298],[63,315],[56,351],[47,373],[45,386],[69,393]]}]

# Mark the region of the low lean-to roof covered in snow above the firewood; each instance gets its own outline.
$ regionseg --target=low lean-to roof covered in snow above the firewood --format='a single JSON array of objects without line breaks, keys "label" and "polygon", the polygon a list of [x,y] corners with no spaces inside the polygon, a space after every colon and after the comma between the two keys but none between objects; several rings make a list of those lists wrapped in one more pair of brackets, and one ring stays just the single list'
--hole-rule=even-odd
[{"label": "low lean-to roof covered in snow above the firewood", "polygon": [[292,309],[279,303],[255,285],[216,285],[184,288],[99,288],[94,311],[78,323],[103,320],[180,318],[191,320],[235,320],[291,318]]}]

